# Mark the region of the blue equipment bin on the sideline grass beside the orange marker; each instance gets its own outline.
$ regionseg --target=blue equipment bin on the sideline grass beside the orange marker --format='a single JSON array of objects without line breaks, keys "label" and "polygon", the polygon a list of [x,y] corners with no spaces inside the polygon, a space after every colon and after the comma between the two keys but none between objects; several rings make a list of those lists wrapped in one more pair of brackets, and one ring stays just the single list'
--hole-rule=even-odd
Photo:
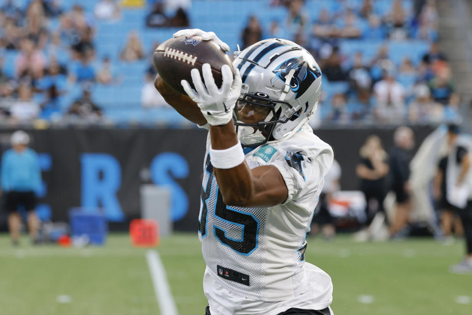
[{"label": "blue equipment bin on the sideline grass beside the orange marker", "polygon": [[74,208],[69,211],[72,237],[87,235],[90,244],[104,245],[108,234],[108,224],[105,215],[96,212]]}]

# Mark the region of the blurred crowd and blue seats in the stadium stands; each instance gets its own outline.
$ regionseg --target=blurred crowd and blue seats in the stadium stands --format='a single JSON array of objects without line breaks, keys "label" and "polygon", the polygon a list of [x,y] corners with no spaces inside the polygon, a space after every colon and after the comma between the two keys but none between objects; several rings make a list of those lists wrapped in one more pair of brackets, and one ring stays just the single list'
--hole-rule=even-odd
[{"label": "blurred crowd and blue seats in the stadium stands", "polygon": [[323,72],[316,126],[458,116],[434,0],[0,0],[0,11],[2,124],[185,124],[151,62],[182,28],[232,49],[266,37],[309,49]]}]

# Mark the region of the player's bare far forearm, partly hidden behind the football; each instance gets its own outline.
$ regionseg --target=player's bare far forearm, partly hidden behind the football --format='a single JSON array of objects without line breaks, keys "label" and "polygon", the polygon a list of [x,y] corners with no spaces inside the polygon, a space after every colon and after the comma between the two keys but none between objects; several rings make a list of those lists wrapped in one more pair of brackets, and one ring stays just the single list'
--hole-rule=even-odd
[{"label": "player's bare far forearm, partly hidden behind the football", "polygon": [[154,86],[156,90],[159,91],[159,93],[162,95],[162,97],[164,97],[166,102],[172,107],[174,107],[177,113],[179,113],[192,123],[198,125],[207,124],[207,120],[200,111],[200,108],[198,108],[197,103],[195,103],[187,95],[180,94],[170,88],[167,84],[165,84],[164,81],[162,81],[159,75],[157,75],[154,80]]}]

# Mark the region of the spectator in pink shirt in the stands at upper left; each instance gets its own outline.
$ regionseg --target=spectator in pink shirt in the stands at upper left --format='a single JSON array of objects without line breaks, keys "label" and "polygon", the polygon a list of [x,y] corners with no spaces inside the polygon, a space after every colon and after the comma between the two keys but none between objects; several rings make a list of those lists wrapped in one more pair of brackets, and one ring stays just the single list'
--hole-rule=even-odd
[{"label": "spectator in pink shirt in the stands at upper left", "polygon": [[21,42],[21,52],[15,61],[16,76],[23,76],[26,72],[42,73],[46,65],[43,53],[34,46],[29,39]]}]

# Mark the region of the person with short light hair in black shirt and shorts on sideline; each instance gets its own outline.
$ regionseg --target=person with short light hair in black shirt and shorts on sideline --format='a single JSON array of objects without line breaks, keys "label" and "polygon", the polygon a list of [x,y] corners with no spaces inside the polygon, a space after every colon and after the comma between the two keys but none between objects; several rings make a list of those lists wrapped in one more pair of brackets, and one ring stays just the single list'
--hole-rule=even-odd
[{"label": "person with short light hair in black shirt and shorts on sideline", "polygon": [[410,162],[413,158],[414,134],[406,126],[400,126],[393,135],[394,146],[389,154],[390,187],[396,195],[396,210],[389,227],[391,238],[402,238],[408,233],[410,217]]}]

